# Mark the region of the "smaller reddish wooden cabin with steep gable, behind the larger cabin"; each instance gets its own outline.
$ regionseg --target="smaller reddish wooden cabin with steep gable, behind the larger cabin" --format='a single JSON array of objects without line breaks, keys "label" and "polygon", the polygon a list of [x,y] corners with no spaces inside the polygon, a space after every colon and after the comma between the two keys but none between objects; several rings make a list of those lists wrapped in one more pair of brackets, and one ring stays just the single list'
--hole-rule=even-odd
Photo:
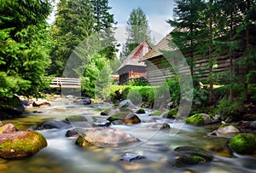
[{"label": "smaller reddish wooden cabin with steep gable, behind the larger cabin", "polygon": [[146,65],[142,60],[143,56],[152,49],[147,41],[140,43],[137,48],[131,51],[125,61],[119,66],[119,84],[128,84],[131,78],[143,78],[147,75]]}]

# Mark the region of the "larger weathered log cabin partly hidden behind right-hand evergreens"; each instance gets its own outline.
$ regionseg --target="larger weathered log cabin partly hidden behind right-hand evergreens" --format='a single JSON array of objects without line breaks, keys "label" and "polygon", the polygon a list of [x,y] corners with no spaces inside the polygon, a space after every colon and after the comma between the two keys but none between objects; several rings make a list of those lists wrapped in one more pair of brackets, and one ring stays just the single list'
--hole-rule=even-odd
[{"label": "larger weathered log cabin partly hidden behind right-hand evergreens", "polygon": [[[237,61],[239,55],[234,57]],[[230,57],[228,55],[220,55],[214,57],[215,65],[212,72],[230,72]],[[172,43],[172,35],[164,37],[160,43],[157,43],[154,49],[143,56],[143,61],[147,66],[147,79],[150,85],[160,85],[167,78],[172,78],[174,74],[191,73],[190,66],[177,46]],[[234,63],[233,63],[234,64]],[[234,66],[236,73],[241,73],[241,69]],[[200,81],[207,81],[209,76],[208,58],[201,55],[194,56],[194,77],[200,78]]]}]

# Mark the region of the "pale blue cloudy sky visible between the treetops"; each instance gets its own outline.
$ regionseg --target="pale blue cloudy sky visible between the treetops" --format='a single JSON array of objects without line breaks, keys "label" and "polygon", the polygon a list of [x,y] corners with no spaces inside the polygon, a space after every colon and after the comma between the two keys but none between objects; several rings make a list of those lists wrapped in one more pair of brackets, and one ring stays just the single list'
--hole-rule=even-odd
[{"label": "pale blue cloudy sky visible between the treetops", "polygon": [[[172,27],[166,23],[166,20],[172,19],[172,10],[174,0],[108,0],[110,13],[114,20],[118,22],[115,37],[119,43],[125,43],[126,21],[129,19],[132,9],[141,8],[148,18],[148,24],[151,29],[153,43],[160,40],[172,31]],[[58,2],[55,1],[55,2]],[[55,8],[56,10],[56,8]],[[49,23],[53,23],[54,14],[49,16]]]}]

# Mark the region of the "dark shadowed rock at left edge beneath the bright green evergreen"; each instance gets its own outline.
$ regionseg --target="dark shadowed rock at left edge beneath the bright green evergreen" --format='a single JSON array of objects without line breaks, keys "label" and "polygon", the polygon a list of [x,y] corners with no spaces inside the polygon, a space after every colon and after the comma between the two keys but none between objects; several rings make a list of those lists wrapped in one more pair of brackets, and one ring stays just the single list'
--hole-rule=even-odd
[{"label": "dark shadowed rock at left edge beneath the bright green evergreen", "polygon": [[13,118],[25,112],[25,107],[20,101],[20,98],[17,95],[13,95],[12,98],[0,99],[0,112],[1,119]]}]

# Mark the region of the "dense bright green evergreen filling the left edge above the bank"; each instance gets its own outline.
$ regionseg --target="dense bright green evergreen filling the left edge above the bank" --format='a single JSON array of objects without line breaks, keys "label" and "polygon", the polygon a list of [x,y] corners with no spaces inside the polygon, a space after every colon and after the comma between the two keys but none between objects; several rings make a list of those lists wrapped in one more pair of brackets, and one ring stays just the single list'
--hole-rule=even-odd
[{"label": "dense bright green evergreen filling the left edge above the bank", "polygon": [[48,0],[5,0],[0,5],[0,98],[33,95],[46,87],[51,41]]}]

